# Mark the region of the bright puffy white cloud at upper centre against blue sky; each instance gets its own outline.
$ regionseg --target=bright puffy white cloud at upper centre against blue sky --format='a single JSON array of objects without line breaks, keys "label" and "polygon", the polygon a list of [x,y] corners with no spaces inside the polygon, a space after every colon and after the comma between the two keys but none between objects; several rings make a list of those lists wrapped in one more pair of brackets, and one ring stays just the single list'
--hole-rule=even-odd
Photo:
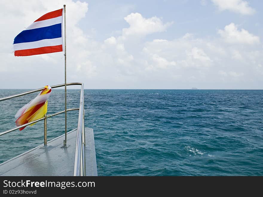
[{"label": "bright puffy white cloud at upper centre against blue sky", "polygon": [[163,32],[172,25],[172,22],[163,24],[156,16],[146,19],[140,13],[131,13],[124,18],[129,23],[129,28],[123,29],[123,35],[147,35],[155,32]]}]

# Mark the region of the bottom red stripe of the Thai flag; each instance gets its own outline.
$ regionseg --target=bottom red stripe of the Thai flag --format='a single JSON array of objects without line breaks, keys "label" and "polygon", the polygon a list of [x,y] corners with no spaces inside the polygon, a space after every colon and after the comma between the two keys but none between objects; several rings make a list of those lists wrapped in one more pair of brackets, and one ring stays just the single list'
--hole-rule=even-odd
[{"label": "bottom red stripe of the Thai flag", "polygon": [[39,55],[46,53],[55,53],[60,51],[63,51],[62,45],[18,50],[15,51],[15,56],[30,56],[30,55]]}]

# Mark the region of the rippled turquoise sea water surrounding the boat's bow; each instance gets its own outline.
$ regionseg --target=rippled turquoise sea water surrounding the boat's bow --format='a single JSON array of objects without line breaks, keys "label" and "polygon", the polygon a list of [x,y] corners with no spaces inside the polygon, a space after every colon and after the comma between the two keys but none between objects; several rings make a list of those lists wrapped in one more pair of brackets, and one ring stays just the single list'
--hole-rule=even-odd
[{"label": "rippled turquoise sea water surrounding the boat's bow", "polygon": [[[1,132],[15,127],[17,110],[36,94],[0,102]],[[48,114],[63,102],[54,89]],[[262,176],[262,103],[262,90],[85,90],[98,175]],[[78,105],[79,91],[68,90],[68,108]],[[77,116],[68,112],[68,130]],[[64,114],[48,119],[48,140],[64,133],[64,121]],[[43,122],[0,136],[0,163],[42,141]]]}]

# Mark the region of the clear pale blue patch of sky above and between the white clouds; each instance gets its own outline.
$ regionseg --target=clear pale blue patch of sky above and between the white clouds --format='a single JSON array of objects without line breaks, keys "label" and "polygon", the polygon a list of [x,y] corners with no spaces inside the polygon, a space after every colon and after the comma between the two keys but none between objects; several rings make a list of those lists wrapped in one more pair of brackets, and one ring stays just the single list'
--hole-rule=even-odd
[{"label": "clear pale blue patch of sky above and between the white clouds", "polygon": [[[88,1],[89,11],[87,17],[82,19],[79,25],[92,26],[97,29],[98,39],[106,39],[107,36],[116,36],[117,29],[128,28],[129,24],[123,20],[130,13],[141,13],[145,18],[157,16],[163,22],[174,24],[167,29],[149,37],[164,37],[175,39],[184,36],[185,33],[194,33],[198,37],[214,36],[218,28],[224,28],[226,24],[234,22],[242,25],[244,29],[250,29],[251,33],[262,34],[263,29],[255,25],[262,23],[261,10],[252,15],[243,15],[233,11],[219,11],[211,1],[202,5],[202,1]],[[248,1],[250,7],[260,8],[262,1]],[[93,9],[94,8],[94,9]],[[101,9],[102,8],[102,9]],[[83,28],[87,30],[88,28]],[[91,28],[90,28],[91,29]],[[105,32],[106,31],[106,32]],[[106,34],[105,34],[106,33]],[[147,37],[147,39],[150,39]]]}]

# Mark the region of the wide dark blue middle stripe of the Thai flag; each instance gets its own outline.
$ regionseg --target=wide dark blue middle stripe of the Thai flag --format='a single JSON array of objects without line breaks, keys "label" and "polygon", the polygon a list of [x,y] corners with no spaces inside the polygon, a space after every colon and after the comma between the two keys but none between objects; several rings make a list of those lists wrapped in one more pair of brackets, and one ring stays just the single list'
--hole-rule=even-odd
[{"label": "wide dark blue middle stripe of the Thai flag", "polygon": [[15,37],[13,44],[60,37],[62,37],[61,23],[43,28],[24,30]]}]

